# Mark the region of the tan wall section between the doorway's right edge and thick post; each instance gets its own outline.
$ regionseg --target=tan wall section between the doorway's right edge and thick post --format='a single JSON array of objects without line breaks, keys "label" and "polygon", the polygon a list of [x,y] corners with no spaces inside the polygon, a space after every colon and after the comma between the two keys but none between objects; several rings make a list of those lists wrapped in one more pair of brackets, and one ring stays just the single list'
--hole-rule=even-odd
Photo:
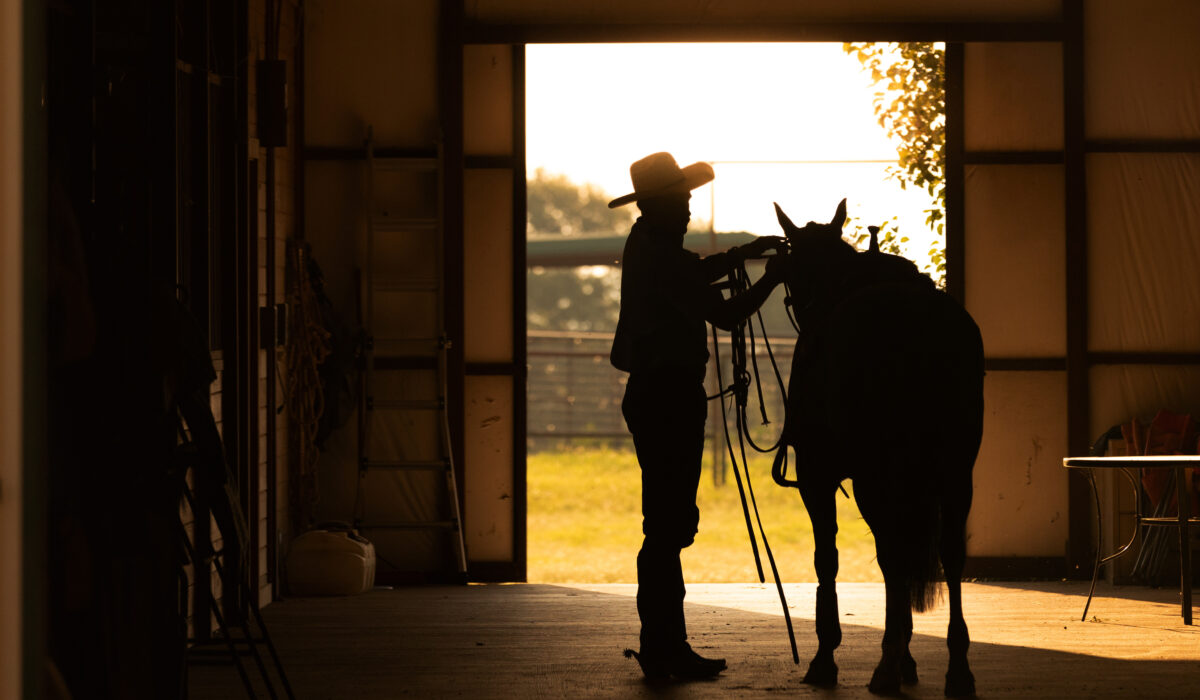
[{"label": "tan wall section between the doorway's right edge and thick post", "polygon": [[[1061,154],[1060,43],[967,43],[962,56],[967,154]],[[1061,163],[992,160],[962,172],[964,300],[986,358],[1020,369],[994,361],[988,371],[967,554],[1061,557],[1068,539],[1061,463],[1067,382],[1062,371],[1021,369],[1067,353],[1064,170]]]}]

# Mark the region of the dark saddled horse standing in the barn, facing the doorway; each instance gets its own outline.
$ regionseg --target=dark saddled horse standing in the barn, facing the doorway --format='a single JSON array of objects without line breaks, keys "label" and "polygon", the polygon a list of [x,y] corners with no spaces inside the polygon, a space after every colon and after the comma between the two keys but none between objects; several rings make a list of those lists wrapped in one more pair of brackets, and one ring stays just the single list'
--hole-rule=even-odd
[{"label": "dark saddled horse standing in the barn, facing the doorway", "polygon": [[[966,310],[900,257],[842,240],[846,201],[829,223],[798,227],[779,204],[784,279],[799,330],[775,480],[799,489],[812,521],[817,652],[804,682],[835,686],[835,496],[853,484],[875,536],[887,593],[882,656],[870,690],[917,682],[912,612],[949,594],[947,696],[974,694],[961,575],[971,472],[983,435],[983,340]],[[787,479],[786,450],[797,455]]]}]

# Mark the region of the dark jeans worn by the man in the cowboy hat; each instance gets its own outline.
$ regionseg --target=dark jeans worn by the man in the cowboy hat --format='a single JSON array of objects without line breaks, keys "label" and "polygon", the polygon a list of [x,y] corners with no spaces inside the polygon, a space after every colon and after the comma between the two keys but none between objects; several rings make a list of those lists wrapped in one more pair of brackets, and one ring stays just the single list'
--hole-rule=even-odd
[{"label": "dark jeans worn by the man in the cowboy hat", "polygon": [[703,369],[630,376],[622,414],[642,469],[642,550],[637,614],[642,651],[670,651],[688,639],[679,551],[696,537],[696,486],[704,454]]}]

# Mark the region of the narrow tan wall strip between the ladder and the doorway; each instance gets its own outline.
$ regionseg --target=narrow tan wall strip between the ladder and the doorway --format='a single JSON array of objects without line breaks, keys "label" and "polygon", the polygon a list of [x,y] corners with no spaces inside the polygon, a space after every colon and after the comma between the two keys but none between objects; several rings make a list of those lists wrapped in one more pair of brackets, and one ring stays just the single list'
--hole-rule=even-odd
[{"label": "narrow tan wall strip between the ladder and the doorway", "polygon": [[[514,450],[524,436],[523,423],[517,425],[524,387],[515,381],[520,373],[514,361],[514,313],[523,307],[523,299],[515,299],[514,276],[524,275],[514,245],[522,244],[524,234],[514,225],[515,191],[524,183],[524,168],[517,166],[524,158],[516,152],[514,132],[516,82],[523,80],[514,62],[521,55],[521,47],[464,47],[462,107],[467,550],[473,562],[487,562],[493,572],[488,578],[517,579],[524,576],[517,563],[524,545],[516,521],[524,517],[516,505],[523,501],[516,497],[523,465]],[[523,207],[521,213],[523,219]]]}]

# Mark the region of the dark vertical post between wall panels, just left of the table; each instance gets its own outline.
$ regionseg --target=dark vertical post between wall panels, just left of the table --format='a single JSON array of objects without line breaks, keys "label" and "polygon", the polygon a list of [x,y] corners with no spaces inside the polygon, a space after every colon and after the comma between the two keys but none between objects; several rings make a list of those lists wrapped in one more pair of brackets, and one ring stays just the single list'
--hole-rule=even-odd
[{"label": "dark vertical post between wall panels, just left of the table", "polygon": [[[1087,361],[1087,179],[1084,144],[1084,2],[1063,0],[1063,175],[1067,259],[1067,449],[1091,444]],[[1068,481],[1067,568],[1084,576],[1090,560],[1091,499],[1082,474]]]}]

